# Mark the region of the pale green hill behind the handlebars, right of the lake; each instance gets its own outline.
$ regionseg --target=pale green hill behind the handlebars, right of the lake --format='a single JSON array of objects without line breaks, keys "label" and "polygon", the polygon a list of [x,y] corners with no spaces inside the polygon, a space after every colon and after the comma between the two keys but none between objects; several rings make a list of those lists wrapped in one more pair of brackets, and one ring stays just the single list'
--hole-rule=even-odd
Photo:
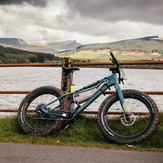
[{"label": "pale green hill behind the handlebars, right of the lake", "polygon": [[112,50],[119,60],[163,60],[163,38],[150,36],[109,43],[81,45],[76,50],[60,53],[85,61],[109,61]]}]

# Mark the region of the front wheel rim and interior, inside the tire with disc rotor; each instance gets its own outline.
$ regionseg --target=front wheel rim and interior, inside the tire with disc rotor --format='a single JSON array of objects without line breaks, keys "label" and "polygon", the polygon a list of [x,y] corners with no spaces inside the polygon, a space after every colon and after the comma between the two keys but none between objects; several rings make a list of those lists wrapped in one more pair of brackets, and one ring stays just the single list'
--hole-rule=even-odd
[{"label": "front wheel rim and interior, inside the tire with disc rotor", "polygon": [[133,122],[130,120],[125,124],[125,120],[122,120],[123,113],[121,112],[118,98],[114,99],[105,110],[104,122],[107,130],[114,136],[123,137],[124,139],[135,139],[145,134],[151,126],[153,119],[151,106],[146,99],[136,95],[124,96],[124,98],[128,112],[131,114],[131,119],[134,116]]}]

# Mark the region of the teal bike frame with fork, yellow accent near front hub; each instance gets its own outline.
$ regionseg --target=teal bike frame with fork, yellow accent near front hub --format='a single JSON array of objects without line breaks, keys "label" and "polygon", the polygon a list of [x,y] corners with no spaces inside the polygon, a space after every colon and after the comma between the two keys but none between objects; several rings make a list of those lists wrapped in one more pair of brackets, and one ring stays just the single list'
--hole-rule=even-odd
[{"label": "teal bike frame with fork, yellow accent near front hub", "polygon": [[[92,86],[95,86],[97,85],[98,83],[104,83],[103,86],[94,94],[92,95],[92,97],[90,97],[86,102],[84,102],[82,105],[78,105],[76,108],[75,108],[75,102],[73,100],[73,94],[76,93],[76,92],[80,92],[80,91],[83,91],[87,88],[91,88]],[[101,94],[104,94],[104,91],[106,91],[108,88],[110,88],[111,86],[114,86],[115,87],[115,90],[116,90],[116,93],[119,97],[119,101],[120,101],[120,104],[122,106],[122,110],[124,112],[124,114],[127,113],[127,109],[126,109],[126,105],[125,105],[125,102],[124,102],[124,98],[123,98],[123,94],[122,94],[122,91],[121,91],[121,88],[119,86],[119,82],[118,82],[118,78],[117,78],[117,74],[116,73],[113,73],[112,75],[108,76],[108,77],[105,77],[101,80],[98,80],[88,86],[85,86],[79,90],[76,90],[75,92],[71,92],[71,93],[68,93],[68,94],[65,94],[61,97],[59,97],[58,99],[48,103],[48,104],[45,104],[44,106],[41,107],[41,110],[45,113],[45,114],[48,114],[49,118],[51,119],[57,119],[58,117],[62,117],[64,119],[70,119],[71,118],[74,118],[75,116],[77,116],[79,113],[81,113],[83,110],[85,110],[93,101],[95,101]],[[66,112],[63,112],[63,113],[55,113],[53,111],[55,111],[57,108],[59,108],[60,106],[57,106],[53,109],[51,109],[50,111],[47,111],[46,108],[48,105],[51,105],[53,103],[55,103],[56,101],[58,100],[61,100],[62,98],[66,97],[66,96],[70,96],[71,97],[71,111],[69,111],[69,113],[66,113]],[[70,116],[71,115],[71,116]]]}]

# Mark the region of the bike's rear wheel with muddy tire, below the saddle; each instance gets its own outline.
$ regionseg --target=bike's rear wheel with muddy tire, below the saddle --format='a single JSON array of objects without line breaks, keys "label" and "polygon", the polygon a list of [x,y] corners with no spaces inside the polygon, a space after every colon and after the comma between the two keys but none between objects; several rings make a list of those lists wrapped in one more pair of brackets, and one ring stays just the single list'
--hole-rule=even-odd
[{"label": "bike's rear wheel with muddy tire, below the saddle", "polygon": [[[47,135],[62,127],[63,119],[48,118],[48,114],[43,113],[40,107],[52,102],[62,96],[63,92],[52,86],[39,87],[30,92],[21,102],[18,110],[18,122],[22,130],[28,134]],[[47,106],[50,111],[57,107],[58,112],[66,109],[66,99],[60,99]]]}]

